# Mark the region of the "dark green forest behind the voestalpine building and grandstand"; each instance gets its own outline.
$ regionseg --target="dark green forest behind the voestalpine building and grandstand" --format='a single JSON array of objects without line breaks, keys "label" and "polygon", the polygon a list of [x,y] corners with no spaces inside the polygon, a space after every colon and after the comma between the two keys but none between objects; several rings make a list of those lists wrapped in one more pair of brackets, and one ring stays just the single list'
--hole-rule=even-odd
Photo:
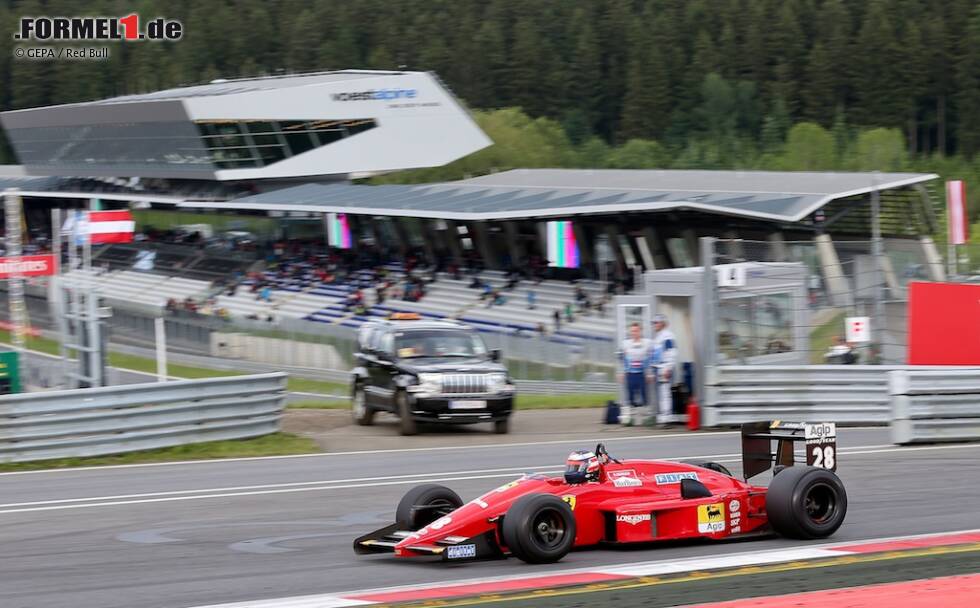
[{"label": "dark green forest behind the voestalpine building and grandstand", "polygon": [[[175,42],[16,59],[21,16],[166,17]],[[0,4],[0,106],[215,78],[432,70],[497,145],[385,181],[533,166],[935,171],[980,220],[973,0],[114,0]],[[0,147],[3,162],[15,162]]]}]

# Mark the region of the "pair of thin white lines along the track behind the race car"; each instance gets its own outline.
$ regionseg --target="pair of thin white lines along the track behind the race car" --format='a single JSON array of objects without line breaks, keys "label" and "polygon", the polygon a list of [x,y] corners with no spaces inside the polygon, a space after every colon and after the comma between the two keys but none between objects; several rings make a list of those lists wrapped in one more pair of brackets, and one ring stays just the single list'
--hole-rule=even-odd
[{"label": "pair of thin white lines along the track behind the race car", "polygon": [[[916,452],[923,450],[950,450],[963,448],[980,448],[980,444],[927,446],[918,448],[880,446],[855,446],[840,450],[842,456],[863,454],[881,454],[891,452]],[[709,454],[704,456],[674,456],[660,460],[714,460],[716,462],[739,462],[739,454]],[[266,484],[256,486],[230,486],[224,488],[201,488],[197,490],[170,490],[165,492],[150,492],[145,494],[123,494],[112,496],[93,496],[80,498],[52,499],[48,501],[21,502],[0,504],[0,514],[30,513],[35,511],[57,511],[65,509],[88,509],[93,507],[110,507],[118,505],[147,504],[157,502],[173,502],[186,500],[203,500],[211,498],[233,498],[239,496],[263,496],[267,494],[292,494],[297,492],[317,492],[328,490],[349,490],[355,488],[373,488],[418,483],[443,483],[448,481],[467,481],[473,479],[496,479],[514,477],[515,475],[533,470],[534,467],[509,467],[503,469],[480,469],[472,471],[446,471],[440,473],[411,473],[385,477],[363,477],[353,479],[303,481],[284,484]],[[561,469],[542,467],[537,472],[553,473]]]}]

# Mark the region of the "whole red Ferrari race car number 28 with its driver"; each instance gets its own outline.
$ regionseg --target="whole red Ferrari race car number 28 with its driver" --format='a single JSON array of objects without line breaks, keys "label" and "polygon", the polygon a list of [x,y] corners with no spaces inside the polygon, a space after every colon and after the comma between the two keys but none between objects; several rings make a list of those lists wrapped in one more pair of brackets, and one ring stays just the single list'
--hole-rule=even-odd
[{"label": "whole red Ferrari race car number 28 with its driver", "polygon": [[[514,555],[549,563],[575,547],[600,543],[772,531],[823,538],[840,527],[847,511],[847,494],[834,473],[836,434],[833,423],[743,425],[746,481],[714,462],[620,461],[599,444],[594,452],[573,452],[564,475],[524,475],[465,504],[449,488],[420,485],[398,504],[395,523],[357,538],[354,551],[452,561]],[[798,442],[805,445],[805,466],[794,466]],[[768,487],[748,483],[770,468]]]}]

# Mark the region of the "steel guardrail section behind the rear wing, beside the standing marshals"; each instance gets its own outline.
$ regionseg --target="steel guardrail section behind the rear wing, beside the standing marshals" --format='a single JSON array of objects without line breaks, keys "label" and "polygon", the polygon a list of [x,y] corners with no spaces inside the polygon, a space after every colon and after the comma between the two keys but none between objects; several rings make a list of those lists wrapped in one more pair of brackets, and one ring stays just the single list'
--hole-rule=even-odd
[{"label": "steel guardrail section behind the rear wing, beside the standing marshals", "polygon": [[887,424],[891,420],[883,365],[722,365],[705,373],[701,424],[734,426],[758,420],[828,420]]}]

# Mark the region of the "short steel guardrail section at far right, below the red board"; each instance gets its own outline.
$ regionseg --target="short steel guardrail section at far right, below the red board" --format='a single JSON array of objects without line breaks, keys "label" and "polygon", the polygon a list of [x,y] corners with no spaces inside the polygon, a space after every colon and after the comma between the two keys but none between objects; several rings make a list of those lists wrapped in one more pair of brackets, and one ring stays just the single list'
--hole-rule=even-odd
[{"label": "short steel guardrail section at far right, below the red board", "polygon": [[980,440],[980,369],[888,374],[892,443]]}]

